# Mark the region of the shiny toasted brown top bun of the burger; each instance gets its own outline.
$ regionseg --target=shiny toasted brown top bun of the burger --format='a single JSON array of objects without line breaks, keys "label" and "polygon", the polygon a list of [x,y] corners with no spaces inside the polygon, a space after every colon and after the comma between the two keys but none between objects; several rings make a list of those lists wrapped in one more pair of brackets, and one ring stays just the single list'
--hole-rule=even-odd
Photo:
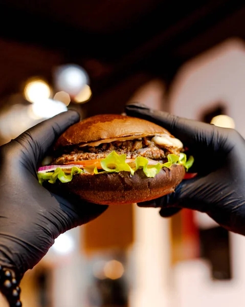
[{"label": "shiny toasted brown top bun of the burger", "polygon": [[122,137],[170,135],[163,127],[147,120],[116,114],[86,118],[69,127],[57,140],[55,149],[63,146],[91,143]]}]

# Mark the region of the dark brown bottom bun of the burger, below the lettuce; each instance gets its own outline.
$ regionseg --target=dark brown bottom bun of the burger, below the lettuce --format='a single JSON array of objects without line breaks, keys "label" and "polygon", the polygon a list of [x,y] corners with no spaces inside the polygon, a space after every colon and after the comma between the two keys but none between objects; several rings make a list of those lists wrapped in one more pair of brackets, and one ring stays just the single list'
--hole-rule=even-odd
[{"label": "dark brown bottom bun of the burger, below the lettuce", "polygon": [[164,167],[154,177],[148,178],[142,169],[133,176],[129,172],[77,174],[71,182],[55,184],[46,182],[44,187],[64,196],[64,198],[79,198],[100,205],[121,205],[140,203],[159,198],[174,191],[185,176],[182,165],[174,164]]}]

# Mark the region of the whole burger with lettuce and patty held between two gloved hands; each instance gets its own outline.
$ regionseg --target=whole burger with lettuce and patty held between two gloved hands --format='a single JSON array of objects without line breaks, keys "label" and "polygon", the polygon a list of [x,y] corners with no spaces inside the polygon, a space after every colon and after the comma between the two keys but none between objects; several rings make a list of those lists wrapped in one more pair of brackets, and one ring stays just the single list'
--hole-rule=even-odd
[{"label": "whole burger with lettuce and patty held between two gloved hands", "polygon": [[193,163],[165,128],[123,115],[86,118],[70,126],[41,166],[39,182],[96,204],[129,204],[174,191]]}]

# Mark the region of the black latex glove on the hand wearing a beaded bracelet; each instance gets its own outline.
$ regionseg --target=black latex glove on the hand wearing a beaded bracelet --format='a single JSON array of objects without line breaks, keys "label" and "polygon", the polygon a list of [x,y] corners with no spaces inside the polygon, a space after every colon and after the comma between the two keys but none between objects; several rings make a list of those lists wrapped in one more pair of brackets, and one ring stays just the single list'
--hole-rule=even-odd
[{"label": "black latex glove on the hand wearing a beaded bracelet", "polygon": [[75,199],[69,202],[38,183],[38,163],[63,131],[78,121],[77,112],[64,112],[0,147],[0,265],[25,273],[59,234],[107,208]]}]

